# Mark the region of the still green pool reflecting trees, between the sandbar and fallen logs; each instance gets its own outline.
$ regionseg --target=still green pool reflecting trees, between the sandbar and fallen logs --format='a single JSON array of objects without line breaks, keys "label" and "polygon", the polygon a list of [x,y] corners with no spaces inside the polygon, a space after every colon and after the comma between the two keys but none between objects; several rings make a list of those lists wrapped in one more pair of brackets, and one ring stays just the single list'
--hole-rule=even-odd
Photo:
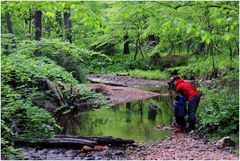
[{"label": "still green pool reflecting trees, between the sandbar and fallen logs", "polygon": [[172,122],[172,98],[155,97],[84,113],[76,112],[61,116],[59,120],[63,127],[59,132],[61,134],[113,136],[148,143],[170,134],[167,130],[156,131],[155,126],[168,126]]}]

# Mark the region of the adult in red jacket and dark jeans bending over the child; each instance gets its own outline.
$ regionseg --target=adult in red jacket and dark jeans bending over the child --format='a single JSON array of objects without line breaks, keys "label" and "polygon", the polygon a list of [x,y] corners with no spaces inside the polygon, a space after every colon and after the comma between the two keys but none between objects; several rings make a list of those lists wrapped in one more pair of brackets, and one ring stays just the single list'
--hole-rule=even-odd
[{"label": "adult in red jacket and dark jeans bending over the child", "polygon": [[195,115],[200,102],[201,93],[197,91],[190,83],[185,82],[179,76],[176,76],[173,81],[175,82],[176,91],[185,96],[186,101],[188,101],[188,130],[193,130],[195,128]]}]

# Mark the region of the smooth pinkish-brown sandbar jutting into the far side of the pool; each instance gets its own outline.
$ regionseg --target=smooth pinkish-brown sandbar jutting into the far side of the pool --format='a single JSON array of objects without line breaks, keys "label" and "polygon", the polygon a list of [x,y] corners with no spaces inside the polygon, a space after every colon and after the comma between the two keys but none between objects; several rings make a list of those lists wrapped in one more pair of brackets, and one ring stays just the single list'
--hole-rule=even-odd
[{"label": "smooth pinkish-brown sandbar jutting into the far side of the pool", "polygon": [[113,105],[136,100],[143,100],[161,95],[168,95],[148,92],[135,88],[109,86],[104,84],[87,84],[86,86],[92,88],[96,92],[102,93],[106,97],[106,99],[109,100]]}]

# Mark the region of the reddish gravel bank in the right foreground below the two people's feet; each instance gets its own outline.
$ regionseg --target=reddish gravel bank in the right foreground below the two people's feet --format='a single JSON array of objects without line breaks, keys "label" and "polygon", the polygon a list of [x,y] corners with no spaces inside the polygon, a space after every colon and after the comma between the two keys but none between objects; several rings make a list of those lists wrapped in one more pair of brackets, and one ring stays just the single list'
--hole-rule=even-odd
[{"label": "reddish gravel bank in the right foreground below the two people's feet", "polygon": [[238,160],[238,156],[190,134],[175,134],[134,150],[126,160]]}]

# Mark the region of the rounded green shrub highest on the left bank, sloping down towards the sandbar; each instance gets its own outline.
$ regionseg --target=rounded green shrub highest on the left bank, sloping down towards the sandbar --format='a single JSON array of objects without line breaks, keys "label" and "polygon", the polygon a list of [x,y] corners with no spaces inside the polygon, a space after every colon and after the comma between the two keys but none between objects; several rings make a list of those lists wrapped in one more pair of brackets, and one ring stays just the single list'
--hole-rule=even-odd
[{"label": "rounded green shrub highest on the left bank, sloping down towards the sandbar", "polygon": [[73,44],[58,39],[42,39],[41,41],[22,41],[19,43],[18,52],[24,55],[34,56],[38,50],[42,57],[48,57],[57,65],[71,72],[79,82],[85,81],[85,74],[82,67],[81,50]]}]

